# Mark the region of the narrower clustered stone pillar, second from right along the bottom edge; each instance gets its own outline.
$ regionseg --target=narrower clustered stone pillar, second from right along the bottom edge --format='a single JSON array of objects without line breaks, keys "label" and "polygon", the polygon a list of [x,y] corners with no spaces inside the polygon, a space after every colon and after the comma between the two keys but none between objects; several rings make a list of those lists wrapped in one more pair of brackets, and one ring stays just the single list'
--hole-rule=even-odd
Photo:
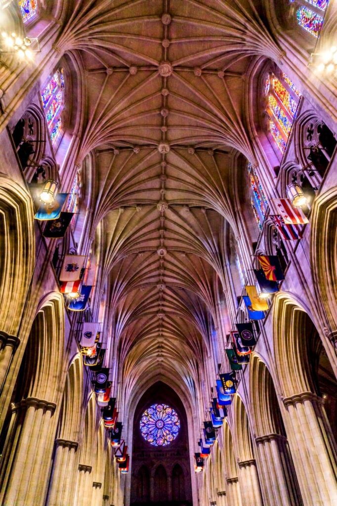
[{"label": "narrower clustered stone pillar, second from right along the bottom edge", "polygon": [[301,505],[301,495],[294,476],[287,440],[280,434],[256,438],[261,463],[260,484],[268,506]]}]

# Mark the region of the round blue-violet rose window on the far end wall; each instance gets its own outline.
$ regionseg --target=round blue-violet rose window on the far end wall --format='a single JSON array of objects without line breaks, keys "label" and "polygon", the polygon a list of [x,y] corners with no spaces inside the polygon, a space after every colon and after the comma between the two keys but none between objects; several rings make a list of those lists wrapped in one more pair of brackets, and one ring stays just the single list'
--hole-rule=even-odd
[{"label": "round blue-violet rose window on the far end wall", "polygon": [[139,426],[145,441],[153,446],[167,446],[178,436],[180,420],[167,404],[152,404],[142,414]]}]

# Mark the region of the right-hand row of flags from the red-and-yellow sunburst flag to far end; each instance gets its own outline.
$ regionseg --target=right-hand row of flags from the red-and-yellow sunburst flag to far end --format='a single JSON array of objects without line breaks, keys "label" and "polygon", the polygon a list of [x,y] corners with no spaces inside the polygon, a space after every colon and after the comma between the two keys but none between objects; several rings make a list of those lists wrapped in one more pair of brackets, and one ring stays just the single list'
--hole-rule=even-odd
[{"label": "right-hand row of flags from the red-and-yellow sunburst flag to far end", "polygon": [[[255,275],[259,284],[260,293],[276,293],[279,291],[279,282],[284,280],[284,274],[279,259],[275,255],[259,255],[259,269],[255,269]],[[231,330],[231,348],[227,348],[226,355],[229,360],[231,372],[219,374],[216,380],[217,397],[211,400],[209,414],[210,420],[203,422],[202,437],[198,441],[199,451],[194,454],[196,473],[203,471],[205,460],[210,454],[214,442],[217,439],[217,431],[223,426],[227,416],[227,406],[232,403],[236,393],[236,372],[242,369],[243,364],[249,363],[250,354],[256,345],[254,320],[265,317],[265,311],[269,309],[266,300],[259,297],[255,285],[246,285],[247,295],[243,296],[247,308],[249,320],[246,323],[235,323],[235,329]]]}]

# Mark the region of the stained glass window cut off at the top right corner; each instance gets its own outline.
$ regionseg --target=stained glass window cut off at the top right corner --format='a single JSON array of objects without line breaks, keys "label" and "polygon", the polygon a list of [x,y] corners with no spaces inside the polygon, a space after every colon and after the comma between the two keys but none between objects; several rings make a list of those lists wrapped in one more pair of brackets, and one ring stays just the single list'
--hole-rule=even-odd
[{"label": "stained glass window cut off at the top right corner", "polygon": [[301,0],[300,2],[298,0],[289,0],[289,2],[298,5],[296,9],[298,25],[314,37],[318,37],[323,27],[324,13],[329,0]]}]

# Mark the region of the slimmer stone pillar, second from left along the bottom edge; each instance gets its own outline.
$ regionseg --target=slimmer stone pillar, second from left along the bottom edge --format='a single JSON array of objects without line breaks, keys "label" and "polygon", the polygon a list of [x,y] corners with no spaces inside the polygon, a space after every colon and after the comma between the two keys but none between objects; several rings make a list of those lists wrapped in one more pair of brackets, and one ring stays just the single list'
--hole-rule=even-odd
[{"label": "slimmer stone pillar, second from left along the bottom edge", "polygon": [[77,447],[76,441],[56,439],[53,475],[47,506],[68,506],[73,503],[76,479],[74,463]]}]

